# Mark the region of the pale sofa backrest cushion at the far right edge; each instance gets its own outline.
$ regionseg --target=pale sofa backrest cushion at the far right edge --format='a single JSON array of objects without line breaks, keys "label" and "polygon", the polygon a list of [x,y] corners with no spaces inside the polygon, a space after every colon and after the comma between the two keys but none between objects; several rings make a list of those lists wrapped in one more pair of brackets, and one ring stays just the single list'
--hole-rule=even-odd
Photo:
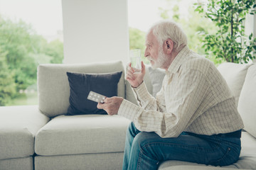
[{"label": "pale sofa backrest cushion at the far right edge", "polygon": [[238,101],[238,112],[245,125],[245,130],[256,137],[256,64],[247,71],[245,83]]}]

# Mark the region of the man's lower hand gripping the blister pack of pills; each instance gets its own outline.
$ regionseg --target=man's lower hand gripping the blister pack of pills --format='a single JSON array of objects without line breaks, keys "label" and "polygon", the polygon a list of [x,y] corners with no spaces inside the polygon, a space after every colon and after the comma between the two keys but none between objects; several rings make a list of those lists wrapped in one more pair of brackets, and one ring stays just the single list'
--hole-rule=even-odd
[{"label": "man's lower hand gripping the blister pack of pills", "polygon": [[104,109],[109,115],[117,115],[119,107],[124,98],[121,97],[111,97],[105,98],[104,103],[98,103],[97,108]]}]

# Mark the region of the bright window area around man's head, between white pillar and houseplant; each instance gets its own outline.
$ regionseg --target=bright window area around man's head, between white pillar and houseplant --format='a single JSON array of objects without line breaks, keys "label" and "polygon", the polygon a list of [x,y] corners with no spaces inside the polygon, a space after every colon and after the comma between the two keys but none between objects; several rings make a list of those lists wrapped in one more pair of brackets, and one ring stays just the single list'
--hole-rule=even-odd
[{"label": "bright window area around man's head, between white pillar and houseplant", "polygon": [[[201,0],[204,1],[204,0]],[[150,26],[162,19],[171,19],[181,25],[188,36],[188,46],[191,50],[204,55],[199,41],[199,32],[214,30],[213,23],[194,11],[194,3],[198,0],[129,0],[129,45],[130,49],[142,50],[142,60],[148,64],[144,57],[144,41],[146,31]]]}]

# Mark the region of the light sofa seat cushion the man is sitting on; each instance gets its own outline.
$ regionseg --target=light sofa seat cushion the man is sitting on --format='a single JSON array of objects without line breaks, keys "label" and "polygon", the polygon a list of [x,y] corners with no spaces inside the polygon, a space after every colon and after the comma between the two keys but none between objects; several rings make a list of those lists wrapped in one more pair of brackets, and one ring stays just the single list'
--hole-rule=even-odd
[{"label": "light sofa seat cushion the man is sitting on", "polygon": [[[241,145],[242,150],[238,162],[229,166],[222,166],[223,168],[256,170],[256,138],[247,132],[242,132]],[[196,169],[198,166],[204,166],[207,169],[214,167],[191,162],[166,161],[159,166],[159,169],[167,170],[175,166],[188,166],[188,169]]]}]

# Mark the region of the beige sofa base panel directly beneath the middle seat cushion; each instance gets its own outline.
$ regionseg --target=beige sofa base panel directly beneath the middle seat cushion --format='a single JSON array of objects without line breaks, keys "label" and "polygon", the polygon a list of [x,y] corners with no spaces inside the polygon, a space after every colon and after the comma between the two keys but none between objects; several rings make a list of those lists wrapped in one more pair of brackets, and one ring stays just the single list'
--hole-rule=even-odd
[{"label": "beige sofa base panel directly beneath the middle seat cushion", "polygon": [[36,170],[121,170],[124,152],[35,157]]}]

